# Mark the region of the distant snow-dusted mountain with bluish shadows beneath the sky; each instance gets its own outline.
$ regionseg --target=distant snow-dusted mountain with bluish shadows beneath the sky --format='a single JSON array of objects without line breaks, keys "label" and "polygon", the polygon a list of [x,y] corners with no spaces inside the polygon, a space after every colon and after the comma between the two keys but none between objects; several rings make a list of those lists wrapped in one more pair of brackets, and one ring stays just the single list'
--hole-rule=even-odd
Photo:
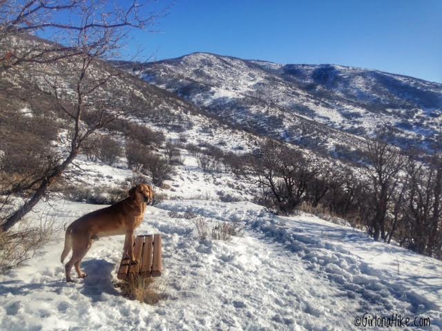
[{"label": "distant snow-dusted mountain with bluish shadows beneath the sky", "polygon": [[209,53],[124,67],[224,121],[315,150],[357,147],[352,134],[384,125],[392,143],[430,148],[442,120],[442,84],[378,70]]}]

